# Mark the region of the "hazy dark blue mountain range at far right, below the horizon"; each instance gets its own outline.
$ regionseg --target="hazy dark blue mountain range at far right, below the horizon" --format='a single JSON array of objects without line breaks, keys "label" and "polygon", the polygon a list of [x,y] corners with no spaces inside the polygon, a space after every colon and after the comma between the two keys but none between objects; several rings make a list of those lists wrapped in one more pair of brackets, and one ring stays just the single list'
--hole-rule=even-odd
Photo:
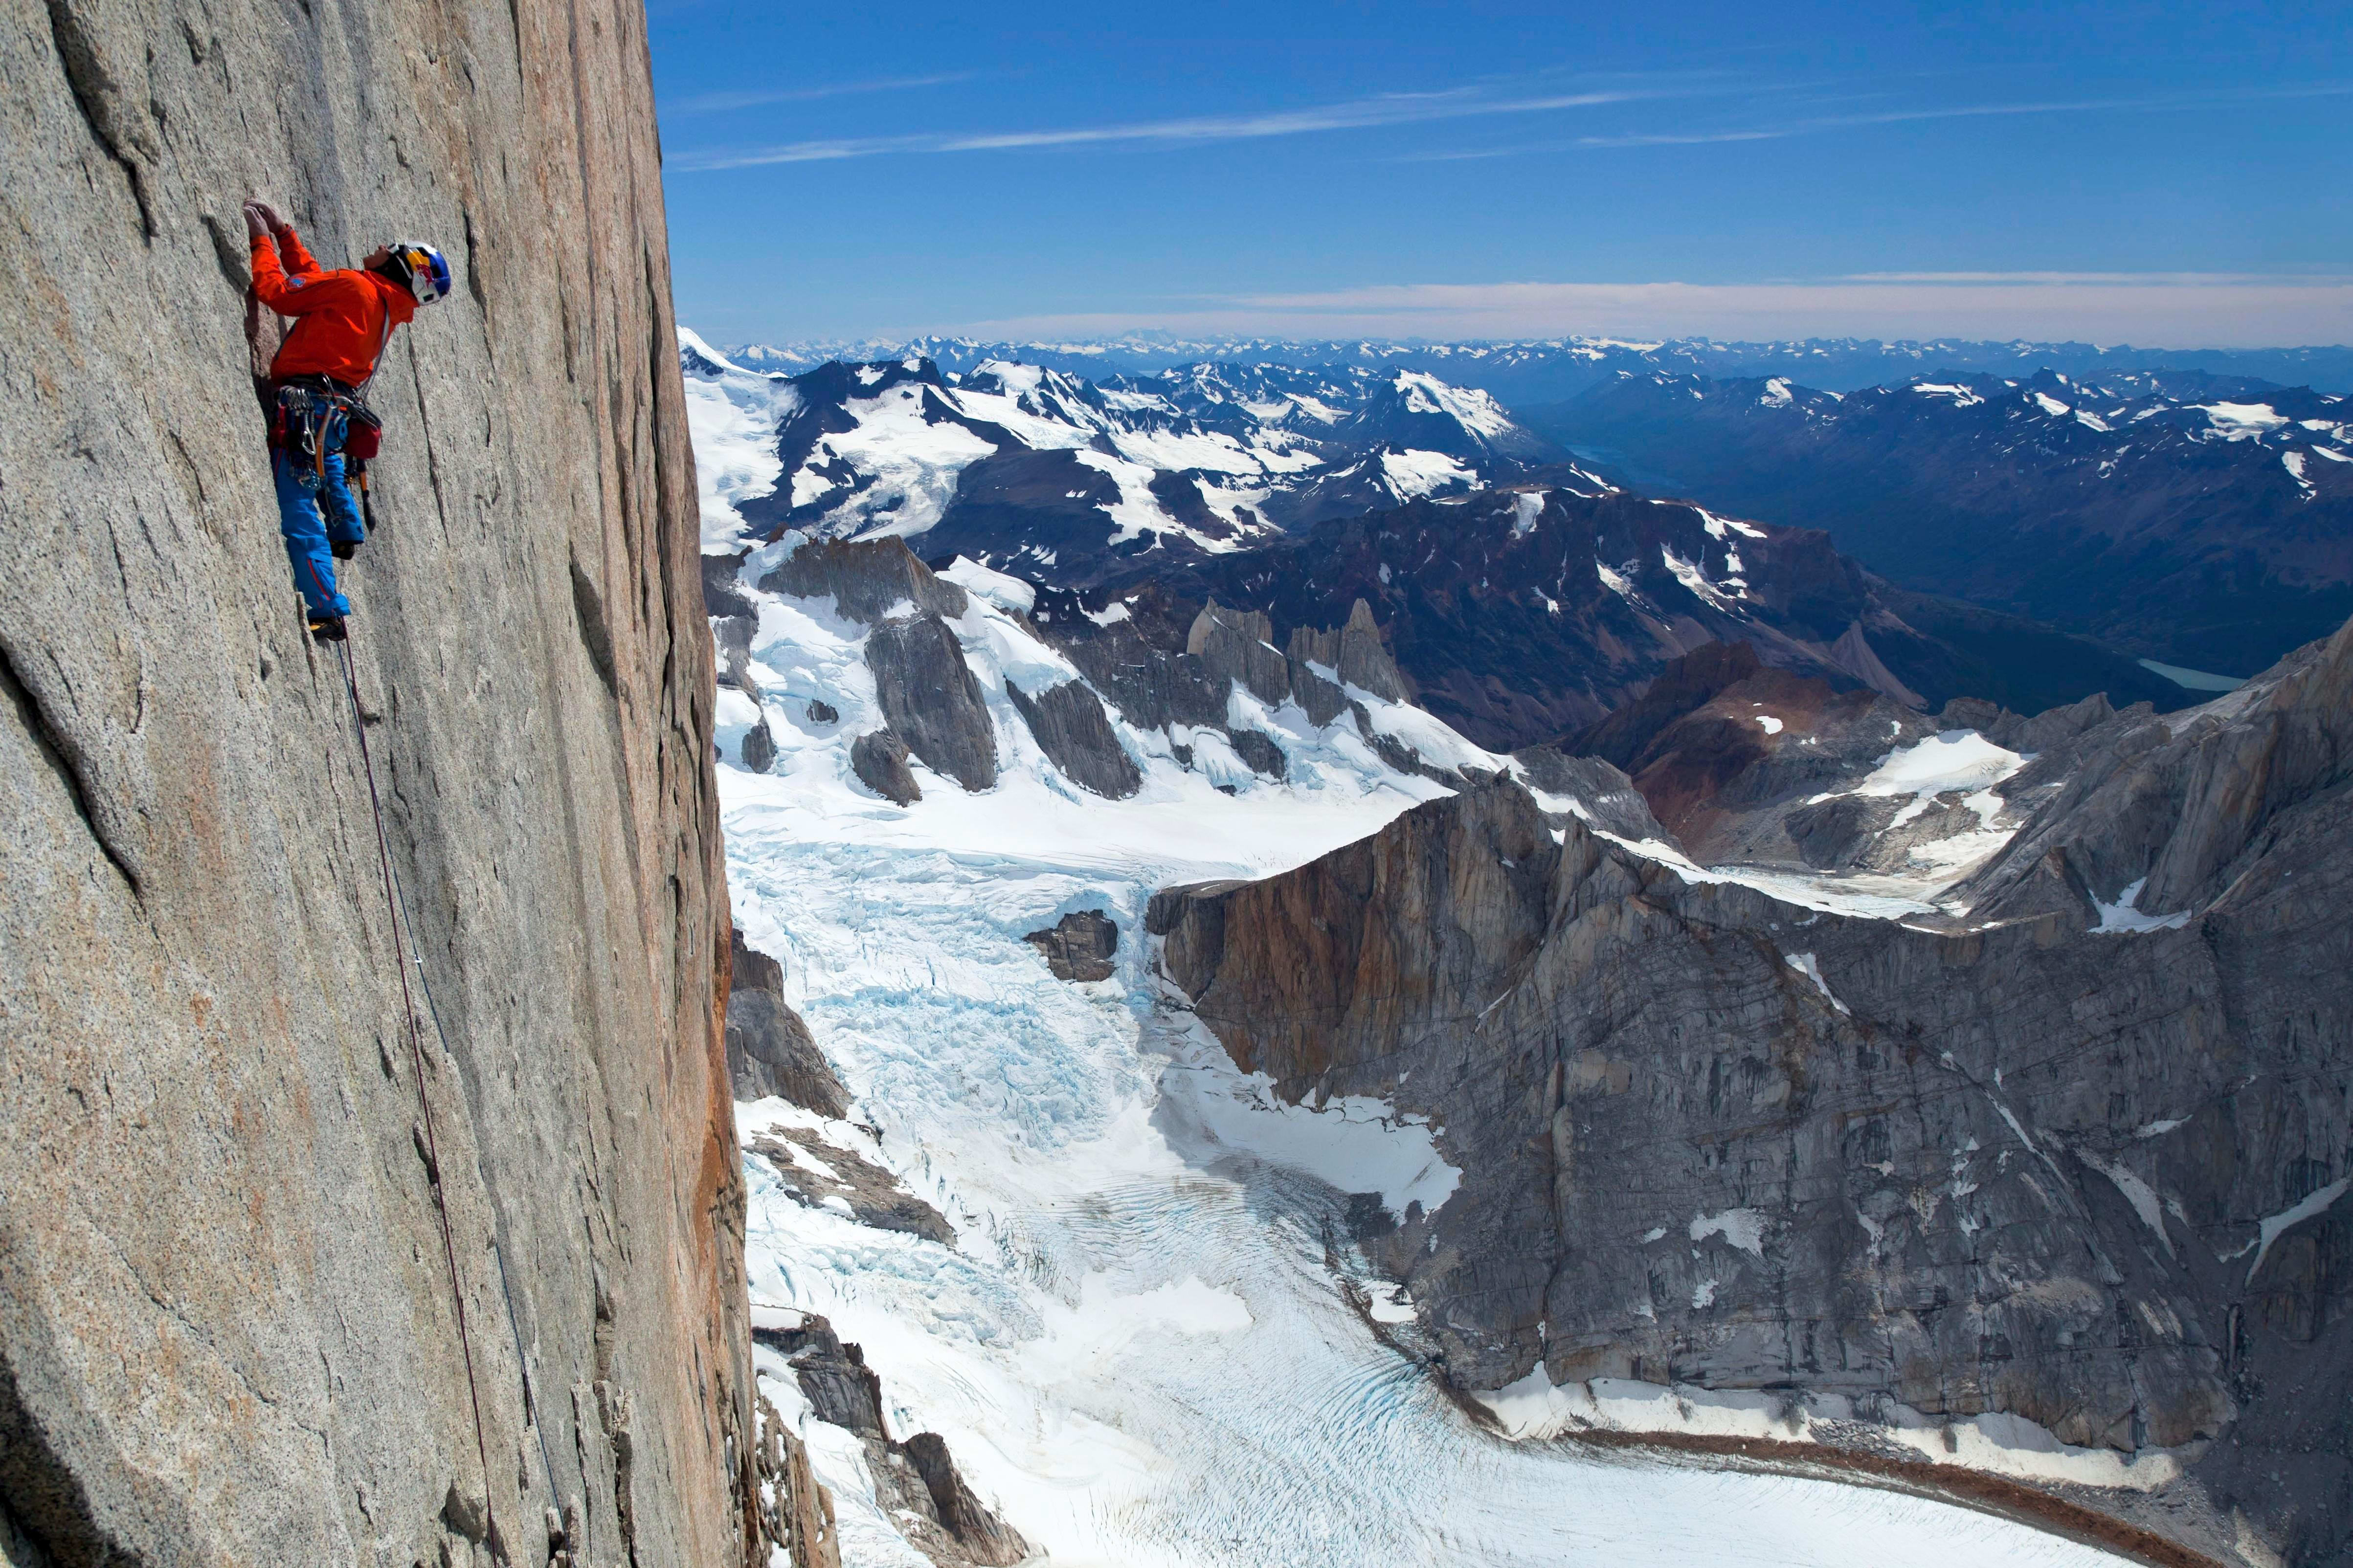
[{"label": "hazy dark blue mountain range at far right, below the horizon", "polygon": [[1527,409],[1609,477],[1828,529],[1901,585],[2247,675],[2353,614],[2353,397],[2205,371],[2097,381],[1621,374]]}]

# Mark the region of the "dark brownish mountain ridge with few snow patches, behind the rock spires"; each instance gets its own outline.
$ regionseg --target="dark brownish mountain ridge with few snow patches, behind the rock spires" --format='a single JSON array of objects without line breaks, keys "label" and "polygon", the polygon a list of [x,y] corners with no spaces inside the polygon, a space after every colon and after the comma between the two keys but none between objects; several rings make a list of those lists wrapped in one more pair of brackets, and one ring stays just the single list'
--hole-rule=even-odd
[{"label": "dark brownish mountain ridge with few snow patches, behind the rock spires", "polygon": [[1362,602],[1412,698],[1499,752],[1593,724],[1711,642],[1929,712],[1955,696],[2035,712],[2089,691],[2118,705],[2188,701],[2089,639],[1899,590],[1819,529],[1539,482],[1139,564],[1085,595],[1042,595],[1040,611],[1056,639],[1134,623],[1148,644],[1181,649],[1209,602],[1285,632],[1339,625]]}]

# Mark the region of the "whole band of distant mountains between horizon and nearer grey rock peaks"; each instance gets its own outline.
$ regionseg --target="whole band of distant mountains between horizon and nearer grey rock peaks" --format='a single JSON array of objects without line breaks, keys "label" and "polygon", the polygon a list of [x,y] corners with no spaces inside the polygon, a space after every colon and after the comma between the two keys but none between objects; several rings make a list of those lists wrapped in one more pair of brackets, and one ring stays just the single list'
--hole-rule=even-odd
[{"label": "whole band of distant mountains between horizon and nearer grey rock peaks", "polygon": [[1111,628],[1184,651],[1212,602],[1278,637],[1362,602],[1414,698],[1497,750],[1708,642],[1908,710],[2169,710],[2191,691],[2134,658],[2261,668],[2353,576],[2348,400],[2212,371],[1649,369],[1518,418],[1400,364],[680,357],[711,550],[904,536],[1031,583],[1073,656]]}]

